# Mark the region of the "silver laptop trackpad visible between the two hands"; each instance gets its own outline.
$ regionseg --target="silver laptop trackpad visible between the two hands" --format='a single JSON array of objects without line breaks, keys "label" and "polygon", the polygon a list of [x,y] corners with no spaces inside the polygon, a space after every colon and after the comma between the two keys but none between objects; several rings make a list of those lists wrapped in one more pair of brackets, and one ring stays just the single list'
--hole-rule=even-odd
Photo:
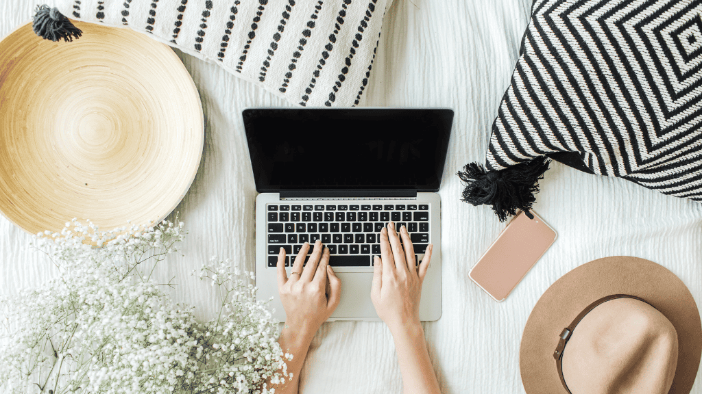
[{"label": "silver laptop trackpad visible between the two hands", "polygon": [[331,318],[377,319],[376,308],[371,302],[373,273],[340,272],[336,273],[336,276],[341,280],[341,299]]}]

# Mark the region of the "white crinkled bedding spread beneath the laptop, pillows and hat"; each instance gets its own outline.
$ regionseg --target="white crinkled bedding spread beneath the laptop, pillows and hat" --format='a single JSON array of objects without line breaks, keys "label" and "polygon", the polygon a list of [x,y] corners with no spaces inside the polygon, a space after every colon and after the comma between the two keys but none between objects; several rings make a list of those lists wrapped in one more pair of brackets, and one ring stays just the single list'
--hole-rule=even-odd
[{"label": "white crinkled bedding spread beneath the laptop, pillows and hat", "polygon": [[[0,34],[29,20],[34,4],[0,0]],[[702,204],[559,163],[541,181],[535,205],[559,233],[556,243],[502,303],[468,280],[472,264],[504,224],[489,208],[462,203],[454,174],[465,163],[484,160],[530,6],[530,0],[395,0],[365,97],[365,105],[456,111],[439,191],[443,315],[424,325],[443,393],[523,392],[519,341],[531,308],[557,278],[592,259],[624,254],[656,261],[680,276],[698,306],[702,303]],[[206,142],[192,189],[178,206],[189,231],[185,256],[165,261],[159,275],[176,276],[174,299],[208,318],[215,304],[211,287],[190,272],[214,254],[253,269],[256,189],[241,109],[291,104],[216,65],[179,55],[199,88]],[[30,238],[0,218],[0,295],[39,285],[55,273],[29,247]],[[376,322],[324,324],[307,355],[300,391],[399,393],[390,332]],[[702,393],[699,379],[692,393]]]}]

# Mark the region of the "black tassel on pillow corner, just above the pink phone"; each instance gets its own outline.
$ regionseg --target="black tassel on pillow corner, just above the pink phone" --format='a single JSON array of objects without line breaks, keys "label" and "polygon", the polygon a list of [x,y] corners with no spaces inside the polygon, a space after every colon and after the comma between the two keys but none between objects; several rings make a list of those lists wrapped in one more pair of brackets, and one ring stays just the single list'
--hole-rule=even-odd
[{"label": "black tassel on pillow corner, just above the pink phone", "polygon": [[467,164],[457,174],[466,184],[461,200],[476,206],[492,205],[500,222],[507,220],[508,215],[516,215],[517,210],[534,219],[529,210],[536,201],[538,179],[543,179],[549,163],[540,156],[499,171],[486,171],[478,163]]}]

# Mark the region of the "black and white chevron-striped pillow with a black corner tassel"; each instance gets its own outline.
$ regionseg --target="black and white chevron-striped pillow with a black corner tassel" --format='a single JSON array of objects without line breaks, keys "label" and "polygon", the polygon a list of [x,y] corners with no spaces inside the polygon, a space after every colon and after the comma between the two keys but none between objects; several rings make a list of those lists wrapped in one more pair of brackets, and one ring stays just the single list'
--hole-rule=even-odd
[{"label": "black and white chevron-striped pillow with a black corner tassel", "polygon": [[[701,125],[702,1],[536,0],[486,166],[494,180],[548,155],[701,201]],[[476,205],[504,192],[480,170],[459,173]]]}]

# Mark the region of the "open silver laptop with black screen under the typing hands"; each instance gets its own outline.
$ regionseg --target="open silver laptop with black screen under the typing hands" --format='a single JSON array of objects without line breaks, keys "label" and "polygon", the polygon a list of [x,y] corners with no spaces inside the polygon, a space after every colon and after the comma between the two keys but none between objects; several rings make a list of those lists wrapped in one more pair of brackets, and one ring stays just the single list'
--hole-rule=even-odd
[{"label": "open silver laptop with black screen under the typing hands", "polygon": [[[392,220],[411,235],[417,260],[434,244],[422,286],[421,320],[441,305],[439,185],[451,109],[255,108],[243,112],[256,198],[256,287],[285,321],[277,259],[286,271],[301,245],[330,249],[341,299],[329,320],[379,320],[371,303],[372,256]],[[416,261],[417,263],[417,261]]]}]

